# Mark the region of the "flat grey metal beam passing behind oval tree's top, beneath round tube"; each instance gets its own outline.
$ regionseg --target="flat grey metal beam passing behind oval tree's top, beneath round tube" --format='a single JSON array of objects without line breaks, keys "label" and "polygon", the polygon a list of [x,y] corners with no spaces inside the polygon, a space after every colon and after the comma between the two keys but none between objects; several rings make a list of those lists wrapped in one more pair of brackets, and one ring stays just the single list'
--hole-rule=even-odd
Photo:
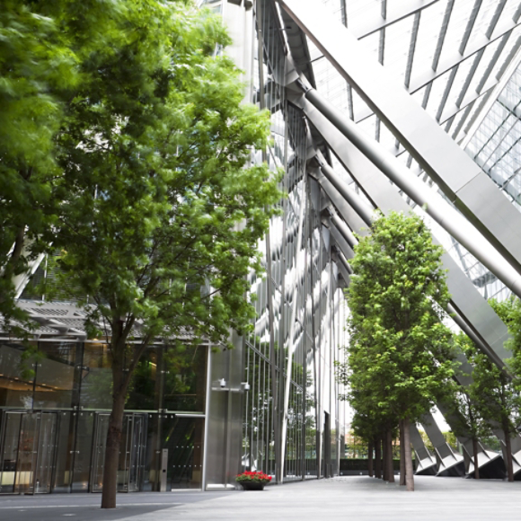
[{"label": "flat grey metal beam passing behind oval tree's top, beneath round tube", "polygon": [[[357,181],[358,186],[376,208],[380,208],[384,214],[393,210],[404,213],[411,211],[411,207],[402,199],[396,186],[393,186],[384,174],[367,159],[366,155],[352,145],[319,110],[302,98],[294,99],[293,102],[304,110],[306,117],[311,120],[324,141],[331,147],[333,154]],[[359,230],[355,230],[355,232],[358,233]],[[433,240],[437,242],[435,237]],[[499,360],[509,358],[510,355],[503,348],[503,343],[508,339],[507,326],[483,299],[472,281],[464,275],[452,257],[445,254],[443,262],[448,270],[447,286],[455,308],[462,314],[465,322],[483,339],[484,343],[496,353],[497,363]]]}]

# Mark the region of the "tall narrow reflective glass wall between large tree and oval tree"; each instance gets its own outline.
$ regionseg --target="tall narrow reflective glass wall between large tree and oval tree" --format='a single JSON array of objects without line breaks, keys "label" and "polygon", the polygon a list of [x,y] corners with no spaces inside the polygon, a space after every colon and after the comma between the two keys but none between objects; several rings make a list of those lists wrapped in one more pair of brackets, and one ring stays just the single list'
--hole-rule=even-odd
[{"label": "tall narrow reflective glass wall between large tree and oval tree", "polygon": [[[287,198],[260,244],[268,275],[252,277],[258,318],[245,341],[250,390],[243,408],[242,464],[243,470],[282,472],[277,443],[286,417],[283,480],[302,480],[336,472],[331,459],[338,455],[340,424],[332,371],[340,338],[332,328],[340,326],[343,296],[322,227],[320,190],[306,174],[309,129],[285,95],[288,50],[277,4],[259,0],[254,19],[252,102],[271,112],[272,133],[269,149],[258,151],[255,160],[267,161],[272,171],[284,169],[280,188]],[[327,439],[326,415],[333,426]]]}]

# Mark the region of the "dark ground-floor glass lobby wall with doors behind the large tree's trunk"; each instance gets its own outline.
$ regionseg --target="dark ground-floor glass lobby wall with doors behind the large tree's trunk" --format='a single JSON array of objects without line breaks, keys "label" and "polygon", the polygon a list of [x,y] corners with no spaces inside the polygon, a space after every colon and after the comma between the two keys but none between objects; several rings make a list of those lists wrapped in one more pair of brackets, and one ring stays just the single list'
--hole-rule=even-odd
[{"label": "dark ground-floor glass lobby wall with doors behind the large tree's trunk", "polygon": [[[111,407],[102,342],[0,341],[0,493],[102,490]],[[202,486],[208,348],[147,349],[123,424],[119,491]]]}]

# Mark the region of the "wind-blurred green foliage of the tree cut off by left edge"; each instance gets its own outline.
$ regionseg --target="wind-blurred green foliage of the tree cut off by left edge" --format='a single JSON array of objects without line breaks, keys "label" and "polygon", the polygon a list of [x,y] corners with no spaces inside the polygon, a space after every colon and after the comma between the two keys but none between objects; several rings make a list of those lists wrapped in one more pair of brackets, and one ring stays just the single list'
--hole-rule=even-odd
[{"label": "wind-blurred green foliage of the tree cut off by left edge", "polygon": [[[55,215],[56,136],[63,99],[78,81],[76,57],[39,2],[0,9],[0,314],[4,329],[26,322],[13,278],[44,251]],[[25,323],[28,326],[28,323]],[[20,331],[18,331],[20,332]]]}]

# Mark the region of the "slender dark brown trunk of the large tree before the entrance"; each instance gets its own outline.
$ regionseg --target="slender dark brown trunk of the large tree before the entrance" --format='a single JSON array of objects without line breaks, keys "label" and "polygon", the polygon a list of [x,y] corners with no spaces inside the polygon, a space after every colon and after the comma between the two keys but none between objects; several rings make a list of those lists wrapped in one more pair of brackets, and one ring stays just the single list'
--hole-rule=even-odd
[{"label": "slender dark brown trunk of the large tree before the entrance", "polygon": [[123,414],[128,384],[123,366],[112,361],[112,411],[107,432],[107,446],[103,466],[102,508],[116,508],[118,491],[119,446],[123,428]]}]

